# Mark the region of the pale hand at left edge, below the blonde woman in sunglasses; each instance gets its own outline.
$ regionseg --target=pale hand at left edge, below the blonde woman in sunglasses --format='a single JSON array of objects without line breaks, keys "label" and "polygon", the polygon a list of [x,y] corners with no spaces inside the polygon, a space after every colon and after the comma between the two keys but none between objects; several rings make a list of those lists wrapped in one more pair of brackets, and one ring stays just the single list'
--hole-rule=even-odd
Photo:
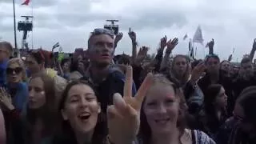
[{"label": "pale hand at left edge, below the blonde woman in sunglasses", "polygon": [[4,88],[0,88],[0,104],[8,110],[14,110],[10,94]]}]

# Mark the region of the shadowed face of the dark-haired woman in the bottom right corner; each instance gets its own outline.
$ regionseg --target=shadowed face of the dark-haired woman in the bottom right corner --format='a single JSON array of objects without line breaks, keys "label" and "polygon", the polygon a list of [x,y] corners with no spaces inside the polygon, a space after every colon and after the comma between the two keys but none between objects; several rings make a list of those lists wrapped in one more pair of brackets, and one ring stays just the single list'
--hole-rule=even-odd
[{"label": "shadowed face of the dark-haired woman in the bottom right corner", "polygon": [[234,106],[233,114],[234,119],[239,123],[243,131],[250,133],[251,131],[254,130],[254,125],[248,122],[248,120],[245,117],[244,110],[238,102],[236,102]]}]

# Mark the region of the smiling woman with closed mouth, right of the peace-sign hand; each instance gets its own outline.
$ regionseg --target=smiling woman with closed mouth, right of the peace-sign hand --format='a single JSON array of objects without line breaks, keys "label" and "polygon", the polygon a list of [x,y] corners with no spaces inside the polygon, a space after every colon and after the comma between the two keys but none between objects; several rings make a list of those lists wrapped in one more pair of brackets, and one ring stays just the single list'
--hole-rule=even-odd
[{"label": "smiling woman with closed mouth, right of the peace-sign hand", "polygon": [[140,144],[215,144],[200,130],[186,129],[182,90],[163,75],[155,75],[142,105]]}]

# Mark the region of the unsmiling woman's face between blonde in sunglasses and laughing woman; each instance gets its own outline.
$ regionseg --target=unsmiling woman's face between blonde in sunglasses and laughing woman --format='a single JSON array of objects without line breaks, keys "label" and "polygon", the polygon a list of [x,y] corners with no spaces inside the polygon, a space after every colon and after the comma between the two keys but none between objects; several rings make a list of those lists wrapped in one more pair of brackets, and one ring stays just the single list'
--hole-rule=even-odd
[{"label": "unsmiling woman's face between blonde in sunglasses and laughing woman", "polygon": [[29,83],[29,102],[30,109],[38,109],[46,103],[46,92],[42,78],[33,78]]}]

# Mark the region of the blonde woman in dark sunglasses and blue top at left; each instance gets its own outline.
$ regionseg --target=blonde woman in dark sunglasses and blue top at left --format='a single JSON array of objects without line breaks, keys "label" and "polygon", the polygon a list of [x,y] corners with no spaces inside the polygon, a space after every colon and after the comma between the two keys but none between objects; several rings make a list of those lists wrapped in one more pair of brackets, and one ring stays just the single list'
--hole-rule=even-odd
[{"label": "blonde woman in dark sunglasses and blue top at left", "polygon": [[15,122],[25,110],[28,98],[26,70],[22,59],[12,58],[7,62],[6,88],[0,88],[0,104],[6,121],[7,143],[19,142],[21,136]]}]

